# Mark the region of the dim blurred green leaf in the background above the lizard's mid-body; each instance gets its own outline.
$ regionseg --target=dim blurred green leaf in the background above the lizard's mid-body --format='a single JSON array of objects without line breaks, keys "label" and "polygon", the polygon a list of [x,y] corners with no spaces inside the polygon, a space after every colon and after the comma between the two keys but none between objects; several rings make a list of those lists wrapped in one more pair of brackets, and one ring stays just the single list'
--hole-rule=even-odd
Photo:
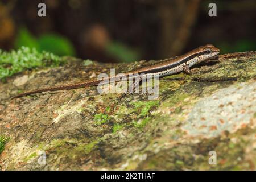
[{"label": "dim blurred green leaf in the background above the lizard's mid-body", "polygon": [[108,46],[106,46],[106,52],[126,63],[139,60],[139,54],[137,51],[132,50],[120,42],[110,42]]}]

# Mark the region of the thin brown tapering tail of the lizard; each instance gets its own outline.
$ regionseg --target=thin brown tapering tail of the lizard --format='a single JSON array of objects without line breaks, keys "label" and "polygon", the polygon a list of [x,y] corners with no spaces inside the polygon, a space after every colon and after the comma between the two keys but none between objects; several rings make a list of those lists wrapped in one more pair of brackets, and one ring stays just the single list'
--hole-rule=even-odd
[{"label": "thin brown tapering tail of the lizard", "polygon": [[81,83],[77,83],[77,84],[68,84],[68,85],[62,85],[62,86],[53,86],[53,87],[43,88],[43,89],[39,89],[39,90],[32,90],[32,91],[24,92],[24,93],[18,94],[17,96],[11,97],[11,100],[13,98],[28,96],[30,94],[42,93],[42,92],[47,92],[47,91],[68,90],[68,89],[84,88],[86,86],[96,86],[101,81],[102,80],[94,80],[94,81],[88,81],[88,82],[81,82]]}]

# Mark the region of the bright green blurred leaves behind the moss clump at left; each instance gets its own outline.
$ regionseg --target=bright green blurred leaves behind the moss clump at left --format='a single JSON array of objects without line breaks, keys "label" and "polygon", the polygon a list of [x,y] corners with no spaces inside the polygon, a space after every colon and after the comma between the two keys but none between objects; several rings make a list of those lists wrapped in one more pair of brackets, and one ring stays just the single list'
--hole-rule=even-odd
[{"label": "bright green blurred leaves behind the moss clump at left", "polygon": [[75,49],[67,38],[55,34],[43,34],[35,38],[26,27],[20,28],[15,40],[15,48],[22,46],[35,48],[39,52],[49,51],[59,56],[75,56]]}]

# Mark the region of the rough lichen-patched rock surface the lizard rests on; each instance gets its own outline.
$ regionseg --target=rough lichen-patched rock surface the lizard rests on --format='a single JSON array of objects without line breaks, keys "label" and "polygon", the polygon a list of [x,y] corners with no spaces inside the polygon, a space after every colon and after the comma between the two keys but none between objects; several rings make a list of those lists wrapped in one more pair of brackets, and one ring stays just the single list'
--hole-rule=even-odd
[{"label": "rough lichen-patched rock surface the lizard rests on", "polygon": [[[255,169],[256,52],[220,55],[195,65],[191,76],[163,77],[156,100],[100,95],[97,87],[9,100],[18,90],[146,64],[72,58],[62,67],[26,71],[1,82],[0,136],[10,139],[0,154],[0,168]],[[216,164],[209,164],[215,154]]]}]

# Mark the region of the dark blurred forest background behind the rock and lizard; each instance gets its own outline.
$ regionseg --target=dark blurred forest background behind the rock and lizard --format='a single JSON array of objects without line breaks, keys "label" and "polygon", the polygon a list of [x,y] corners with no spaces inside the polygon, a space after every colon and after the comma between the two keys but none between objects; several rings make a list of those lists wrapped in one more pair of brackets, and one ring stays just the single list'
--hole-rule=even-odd
[{"label": "dark blurred forest background behind the rock and lizard", "polygon": [[[210,2],[217,17],[208,15]],[[0,0],[1,49],[105,62],[164,59],[207,43],[221,53],[255,51],[255,30],[255,0]]]}]

